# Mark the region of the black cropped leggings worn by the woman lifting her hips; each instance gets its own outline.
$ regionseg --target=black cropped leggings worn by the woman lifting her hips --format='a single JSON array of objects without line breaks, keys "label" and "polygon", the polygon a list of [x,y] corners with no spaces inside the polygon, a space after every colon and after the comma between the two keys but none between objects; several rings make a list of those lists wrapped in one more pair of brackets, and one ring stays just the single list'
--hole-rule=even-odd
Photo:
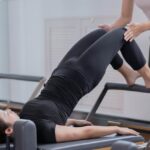
[{"label": "black cropped leggings worn by the woman lifting her hips", "polygon": [[58,65],[76,68],[87,79],[90,89],[94,88],[103,77],[107,66],[121,67],[123,61],[118,50],[133,69],[145,65],[145,59],[136,42],[124,40],[125,29],[119,28],[106,33],[95,30],[78,41]]}]

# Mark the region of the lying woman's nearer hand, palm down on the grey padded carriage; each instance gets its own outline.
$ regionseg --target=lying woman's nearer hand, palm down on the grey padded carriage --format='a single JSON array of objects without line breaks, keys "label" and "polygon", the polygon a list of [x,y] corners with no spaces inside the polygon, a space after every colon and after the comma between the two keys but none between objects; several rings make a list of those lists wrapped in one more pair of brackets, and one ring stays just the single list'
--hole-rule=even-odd
[{"label": "lying woman's nearer hand, palm down on the grey padded carriage", "polygon": [[129,128],[124,128],[124,127],[118,127],[117,128],[117,134],[121,134],[121,135],[139,135],[139,132],[136,132],[135,130],[129,129]]}]

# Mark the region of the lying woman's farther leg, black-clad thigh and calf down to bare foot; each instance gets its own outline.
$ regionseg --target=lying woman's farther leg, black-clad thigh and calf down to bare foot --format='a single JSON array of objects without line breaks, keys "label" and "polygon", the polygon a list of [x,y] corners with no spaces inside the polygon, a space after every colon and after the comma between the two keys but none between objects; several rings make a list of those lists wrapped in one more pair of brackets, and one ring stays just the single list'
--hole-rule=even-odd
[{"label": "lying woman's farther leg, black-clad thigh and calf down to bare foot", "polygon": [[[62,61],[59,63],[59,67],[63,65],[70,58],[79,57],[90,45],[92,45],[98,38],[103,36],[105,33],[106,31],[97,29],[93,32],[90,32],[85,37],[83,37],[69,50],[69,52],[65,55]],[[124,76],[124,78],[126,79],[126,82],[129,85],[134,84],[137,78],[137,73],[131,70],[126,65],[124,65],[122,58],[118,54],[115,56],[115,58],[111,62],[111,65],[113,66],[114,69],[118,70]]]}]

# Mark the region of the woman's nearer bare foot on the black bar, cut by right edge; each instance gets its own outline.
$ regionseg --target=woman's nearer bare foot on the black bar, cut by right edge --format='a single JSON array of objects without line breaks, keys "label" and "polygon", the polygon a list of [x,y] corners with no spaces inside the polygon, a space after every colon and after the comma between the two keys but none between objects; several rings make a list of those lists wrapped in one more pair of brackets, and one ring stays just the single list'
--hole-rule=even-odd
[{"label": "woman's nearer bare foot on the black bar, cut by right edge", "polygon": [[150,88],[150,68],[147,64],[145,64],[141,69],[138,70],[141,76],[144,79],[145,87]]}]

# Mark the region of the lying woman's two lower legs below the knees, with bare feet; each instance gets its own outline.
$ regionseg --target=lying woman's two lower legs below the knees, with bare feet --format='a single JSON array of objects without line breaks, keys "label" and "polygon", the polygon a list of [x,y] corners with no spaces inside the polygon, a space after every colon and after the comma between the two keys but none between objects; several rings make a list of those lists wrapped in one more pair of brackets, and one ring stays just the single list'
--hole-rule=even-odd
[{"label": "lying woman's two lower legs below the knees, with bare feet", "polygon": [[[127,67],[124,64],[121,65],[121,63],[120,63],[121,58],[119,58],[120,57],[119,55],[116,55],[114,57],[114,59],[112,60],[111,64],[112,64],[113,68],[117,69],[125,77],[125,79],[129,85],[134,84],[135,80],[138,77],[142,76],[145,81],[146,87],[150,87],[149,67],[146,64],[146,60],[145,60],[140,48],[136,44],[136,42],[132,41],[132,42],[128,42],[128,44],[125,44],[121,49],[121,53],[122,53],[123,57],[125,58],[125,60],[127,61],[127,63],[134,70],[136,70],[136,72],[132,71],[129,67]],[[115,64],[119,64],[119,63],[120,63],[120,67],[117,68],[115,66]],[[117,65],[117,66],[119,66],[119,65]]]}]

